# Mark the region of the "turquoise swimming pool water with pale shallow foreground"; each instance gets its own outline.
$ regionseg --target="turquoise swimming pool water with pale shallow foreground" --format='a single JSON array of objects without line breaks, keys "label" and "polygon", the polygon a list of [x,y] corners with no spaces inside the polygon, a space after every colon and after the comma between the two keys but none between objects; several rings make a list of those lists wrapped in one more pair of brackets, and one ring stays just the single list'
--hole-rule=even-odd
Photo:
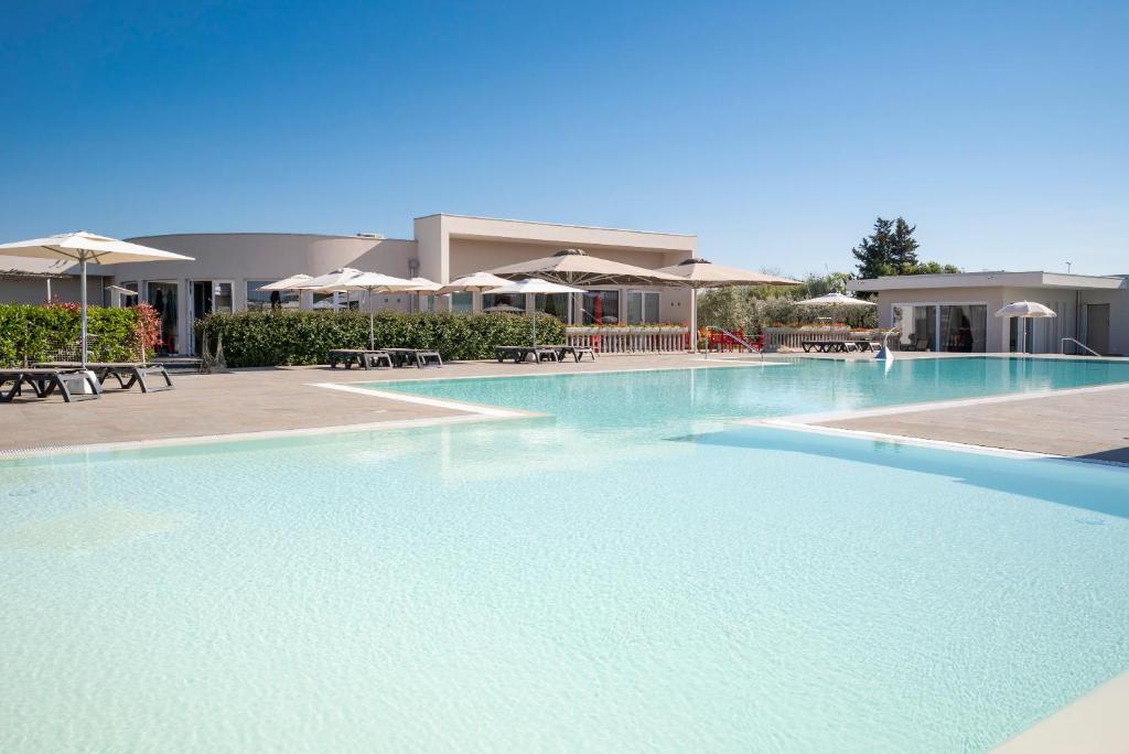
[{"label": "turquoise swimming pool water with pale shallow foreground", "polygon": [[5,462],[0,749],[982,751],[1129,667],[1129,474],[725,420],[1118,367],[399,383],[550,415]]}]

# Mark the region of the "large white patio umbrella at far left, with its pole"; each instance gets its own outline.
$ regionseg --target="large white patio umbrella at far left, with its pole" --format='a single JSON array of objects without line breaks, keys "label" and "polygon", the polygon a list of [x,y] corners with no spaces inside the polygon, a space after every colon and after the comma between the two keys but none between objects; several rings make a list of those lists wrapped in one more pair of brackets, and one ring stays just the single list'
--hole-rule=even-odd
[{"label": "large white patio umbrella at far left, with its pole", "polygon": [[86,230],[63,233],[45,238],[19,240],[12,244],[0,244],[0,256],[25,256],[32,258],[67,258],[78,262],[81,279],[81,322],[80,360],[82,367],[87,362],[86,337],[86,268],[87,264],[121,264],[125,262],[192,262],[191,256],[164,252],[128,240],[117,240],[98,236]]}]

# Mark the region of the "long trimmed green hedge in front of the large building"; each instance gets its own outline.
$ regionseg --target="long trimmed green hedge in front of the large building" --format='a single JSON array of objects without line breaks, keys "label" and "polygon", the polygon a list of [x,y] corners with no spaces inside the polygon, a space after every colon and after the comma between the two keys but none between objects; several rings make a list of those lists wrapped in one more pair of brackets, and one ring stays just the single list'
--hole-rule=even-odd
[{"label": "long trimmed green hedge in front of the large building", "polygon": [[[220,334],[224,357],[231,367],[326,363],[330,349],[368,348],[365,312],[240,312],[211,314],[196,323],[215,353]],[[532,342],[530,318],[515,314],[376,315],[377,348],[420,348],[439,351],[444,360],[488,359],[495,345]],[[564,325],[537,316],[537,342],[563,343]]]}]

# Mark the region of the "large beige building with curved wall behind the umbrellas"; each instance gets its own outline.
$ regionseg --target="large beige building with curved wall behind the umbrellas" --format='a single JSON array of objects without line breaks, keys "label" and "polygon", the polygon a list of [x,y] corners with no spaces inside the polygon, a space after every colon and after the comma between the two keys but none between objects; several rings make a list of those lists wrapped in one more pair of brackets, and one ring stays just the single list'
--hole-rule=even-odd
[{"label": "large beige building with curved wall behind the umbrellas", "polygon": [[[413,223],[414,238],[384,238],[371,234],[329,236],[308,234],[234,233],[141,236],[130,240],[193,257],[192,262],[91,265],[91,301],[112,306],[121,299],[106,291],[111,283],[134,290],[161,315],[165,350],[194,351],[192,323],[210,312],[268,308],[270,293],[259,288],[297,273],[318,275],[339,268],[382,272],[397,278],[422,277],[445,283],[455,278],[502,265],[550,256],[562,248],[583,248],[593,256],[658,269],[694,256],[697,237],[458,214],[429,214]],[[64,300],[77,300],[77,270],[60,269],[52,282]],[[0,280],[0,300],[45,300],[41,278]],[[73,289],[73,290],[71,290]],[[359,297],[359,300],[358,300]],[[369,306],[364,293],[347,297],[283,292],[273,301],[283,308]],[[536,307],[567,323],[679,323],[690,317],[686,289],[596,286],[584,296],[537,297],[533,300],[461,293],[417,297],[376,293],[375,310],[452,309],[460,313],[501,307]]]}]

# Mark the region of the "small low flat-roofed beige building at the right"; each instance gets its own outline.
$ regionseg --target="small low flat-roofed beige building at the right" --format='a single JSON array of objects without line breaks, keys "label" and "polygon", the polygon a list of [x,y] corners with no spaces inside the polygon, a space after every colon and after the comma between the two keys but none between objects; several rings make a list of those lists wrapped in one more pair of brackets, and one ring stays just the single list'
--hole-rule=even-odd
[{"label": "small low flat-roofed beige building at the right", "polygon": [[[1129,353],[1129,275],[1054,272],[969,272],[852,280],[849,290],[877,293],[878,325],[899,331],[903,350],[971,353]],[[1014,301],[1054,310],[1045,319],[994,315]]]}]

